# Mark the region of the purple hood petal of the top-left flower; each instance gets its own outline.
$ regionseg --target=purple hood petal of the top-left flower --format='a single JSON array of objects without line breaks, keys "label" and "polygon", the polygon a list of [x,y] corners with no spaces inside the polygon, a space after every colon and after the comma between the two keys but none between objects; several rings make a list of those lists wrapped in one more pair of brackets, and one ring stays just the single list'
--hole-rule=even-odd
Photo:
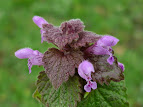
[{"label": "purple hood petal of the top-left flower", "polygon": [[40,16],[34,16],[33,17],[33,22],[39,27],[39,28],[42,28],[42,24],[48,24],[48,22],[40,17]]}]

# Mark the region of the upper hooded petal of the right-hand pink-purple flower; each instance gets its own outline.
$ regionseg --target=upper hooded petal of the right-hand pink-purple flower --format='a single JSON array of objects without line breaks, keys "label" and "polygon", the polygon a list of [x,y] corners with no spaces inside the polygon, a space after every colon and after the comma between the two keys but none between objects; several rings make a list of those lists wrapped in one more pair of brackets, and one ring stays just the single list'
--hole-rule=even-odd
[{"label": "upper hooded petal of the right-hand pink-purple flower", "polygon": [[105,35],[97,41],[98,46],[115,46],[119,42],[119,39]]}]

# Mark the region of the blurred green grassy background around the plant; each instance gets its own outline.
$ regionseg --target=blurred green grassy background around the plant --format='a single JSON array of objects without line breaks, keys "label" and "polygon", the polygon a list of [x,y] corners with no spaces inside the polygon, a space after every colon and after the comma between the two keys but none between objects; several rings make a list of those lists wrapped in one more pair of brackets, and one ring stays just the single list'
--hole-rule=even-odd
[{"label": "blurred green grassy background around the plant", "polygon": [[14,52],[31,47],[44,53],[40,29],[32,17],[39,15],[57,26],[80,18],[85,30],[120,39],[114,47],[125,64],[125,80],[131,107],[143,107],[143,0],[0,0],[0,107],[41,107],[32,98],[42,67],[33,66]]}]

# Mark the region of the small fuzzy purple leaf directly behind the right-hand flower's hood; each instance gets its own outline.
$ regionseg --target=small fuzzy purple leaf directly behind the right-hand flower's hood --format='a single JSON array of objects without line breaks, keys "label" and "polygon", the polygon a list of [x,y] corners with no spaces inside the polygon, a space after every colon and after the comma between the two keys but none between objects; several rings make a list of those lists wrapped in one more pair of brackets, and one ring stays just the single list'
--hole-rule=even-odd
[{"label": "small fuzzy purple leaf directly behind the right-hand flower's hood", "polygon": [[101,36],[93,33],[93,32],[81,32],[79,33],[79,39],[76,42],[71,44],[71,47],[78,48],[88,45],[89,43],[97,42]]}]

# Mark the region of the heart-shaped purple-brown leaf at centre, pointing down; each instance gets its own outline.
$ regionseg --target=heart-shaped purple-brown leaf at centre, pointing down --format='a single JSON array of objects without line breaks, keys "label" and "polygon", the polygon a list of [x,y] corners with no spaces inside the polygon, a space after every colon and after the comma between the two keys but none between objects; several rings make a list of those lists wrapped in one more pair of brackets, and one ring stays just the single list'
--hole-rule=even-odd
[{"label": "heart-shaped purple-brown leaf at centre, pointing down", "polygon": [[46,74],[55,88],[74,76],[75,69],[83,60],[81,51],[62,52],[55,48],[49,49],[43,57]]}]

